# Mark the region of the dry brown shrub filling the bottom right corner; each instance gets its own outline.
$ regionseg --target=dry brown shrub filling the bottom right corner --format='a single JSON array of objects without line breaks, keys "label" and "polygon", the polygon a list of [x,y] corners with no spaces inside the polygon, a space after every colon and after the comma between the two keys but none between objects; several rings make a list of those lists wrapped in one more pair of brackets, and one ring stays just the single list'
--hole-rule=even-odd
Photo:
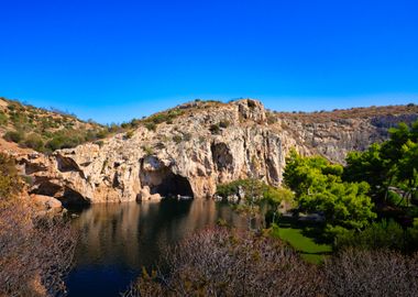
[{"label": "dry brown shrub filling the bottom right corner", "polygon": [[323,271],[328,296],[418,296],[418,254],[348,249]]}]

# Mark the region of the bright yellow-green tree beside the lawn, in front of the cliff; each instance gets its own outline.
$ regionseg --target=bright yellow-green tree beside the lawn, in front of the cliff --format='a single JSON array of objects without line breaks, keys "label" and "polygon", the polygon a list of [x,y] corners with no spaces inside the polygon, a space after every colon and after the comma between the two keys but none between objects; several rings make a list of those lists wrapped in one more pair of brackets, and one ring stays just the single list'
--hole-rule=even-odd
[{"label": "bright yellow-green tree beside the lawn, in front of the cliff", "polygon": [[301,157],[293,151],[284,182],[296,193],[300,210],[323,215],[330,228],[364,228],[376,218],[369,184],[342,182],[342,174],[341,165],[320,156]]}]

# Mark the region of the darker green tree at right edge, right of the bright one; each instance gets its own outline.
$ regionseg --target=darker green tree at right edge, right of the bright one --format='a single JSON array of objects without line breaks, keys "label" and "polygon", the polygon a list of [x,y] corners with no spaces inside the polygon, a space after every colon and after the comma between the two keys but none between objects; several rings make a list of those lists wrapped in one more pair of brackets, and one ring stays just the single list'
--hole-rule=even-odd
[{"label": "darker green tree at right edge, right of the bright one", "polygon": [[385,202],[391,188],[397,189],[407,204],[417,199],[418,187],[418,121],[411,127],[400,123],[389,130],[391,139],[375,143],[365,152],[352,152],[346,157],[344,179],[365,180],[371,195]]}]

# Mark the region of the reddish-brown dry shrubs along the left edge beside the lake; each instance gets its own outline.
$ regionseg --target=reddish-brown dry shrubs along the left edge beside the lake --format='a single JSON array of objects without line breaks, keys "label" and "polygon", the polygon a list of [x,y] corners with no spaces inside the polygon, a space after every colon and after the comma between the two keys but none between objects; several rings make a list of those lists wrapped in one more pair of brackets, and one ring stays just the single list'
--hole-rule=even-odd
[{"label": "reddish-brown dry shrubs along the left edge beside the lake", "polygon": [[62,217],[37,217],[11,164],[0,154],[0,296],[63,296],[77,237]]}]

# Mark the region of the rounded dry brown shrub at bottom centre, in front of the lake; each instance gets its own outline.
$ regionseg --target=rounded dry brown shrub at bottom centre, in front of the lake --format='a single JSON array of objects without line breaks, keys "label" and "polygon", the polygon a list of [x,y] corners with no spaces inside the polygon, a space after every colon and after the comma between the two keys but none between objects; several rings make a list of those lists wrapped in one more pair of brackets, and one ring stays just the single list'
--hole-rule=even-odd
[{"label": "rounded dry brown shrub at bottom centre, in front of the lake", "polygon": [[251,232],[206,230],[165,257],[168,273],[153,272],[125,296],[317,296],[317,268],[279,241]]}]

